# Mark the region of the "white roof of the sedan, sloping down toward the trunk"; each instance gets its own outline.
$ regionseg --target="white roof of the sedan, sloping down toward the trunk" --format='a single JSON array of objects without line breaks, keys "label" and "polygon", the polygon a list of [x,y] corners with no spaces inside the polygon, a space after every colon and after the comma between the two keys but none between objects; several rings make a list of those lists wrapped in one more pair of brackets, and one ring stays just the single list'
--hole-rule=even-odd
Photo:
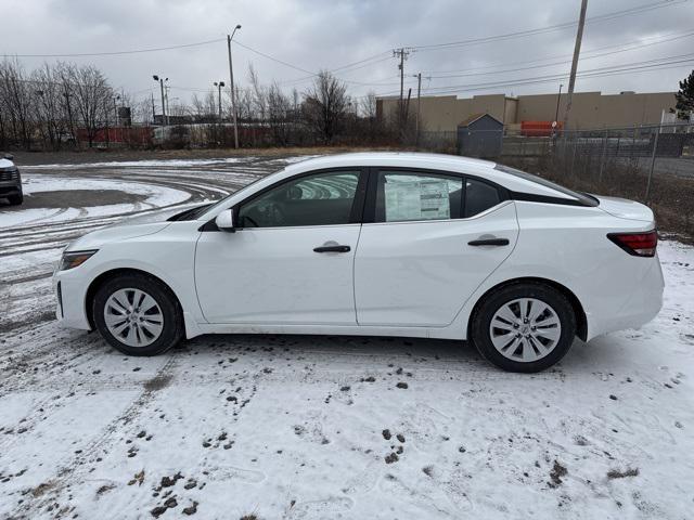
[{"label": "white roof of the sedan, sloping down toward the trunk", "polygon": [[287,178],[311,170],[326,168],[422,168],[451,171],[486,179],[513,192],[571,199],[565,192],[534,182],[531,179],[496,169],[497,162],[457,155],[424,154],[419,152],[359,152],[335,154],[300,160],[287,166],[279,177]]}]

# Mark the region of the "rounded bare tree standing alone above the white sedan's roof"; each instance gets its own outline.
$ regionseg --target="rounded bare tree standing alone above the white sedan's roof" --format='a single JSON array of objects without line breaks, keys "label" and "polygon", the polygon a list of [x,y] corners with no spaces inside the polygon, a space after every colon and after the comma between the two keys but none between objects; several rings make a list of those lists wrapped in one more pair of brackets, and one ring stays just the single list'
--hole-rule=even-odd
[{"label": "rounded bare tree standing alone above the white sedan's roof", "polygon": [[304,94],[304,119],[325,144],[343,129],[349,99],[345,83],[321,70]]}]

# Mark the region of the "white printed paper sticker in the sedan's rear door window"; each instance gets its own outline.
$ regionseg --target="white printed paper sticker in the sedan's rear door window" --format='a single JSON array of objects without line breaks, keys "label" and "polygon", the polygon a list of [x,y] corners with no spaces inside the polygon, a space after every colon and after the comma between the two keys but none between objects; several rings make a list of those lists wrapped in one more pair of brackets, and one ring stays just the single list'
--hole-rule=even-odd
[{"label": "white printed paper sticker in the sedan's rear door window", "polygon": [[451,203],[445,180],[386,182],[386,222],[450,219]]}]

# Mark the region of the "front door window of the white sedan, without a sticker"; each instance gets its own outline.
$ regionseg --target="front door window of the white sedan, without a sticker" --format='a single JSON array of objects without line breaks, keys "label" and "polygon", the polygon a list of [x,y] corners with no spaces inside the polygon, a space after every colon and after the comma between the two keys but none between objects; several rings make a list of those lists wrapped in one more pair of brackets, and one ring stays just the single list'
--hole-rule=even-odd
[{"label": "front door window of the white sedan, without a sticker", "polygon": [[239,208],[242,227],[348,224],[358,170],[325,171],[283,182]]}]

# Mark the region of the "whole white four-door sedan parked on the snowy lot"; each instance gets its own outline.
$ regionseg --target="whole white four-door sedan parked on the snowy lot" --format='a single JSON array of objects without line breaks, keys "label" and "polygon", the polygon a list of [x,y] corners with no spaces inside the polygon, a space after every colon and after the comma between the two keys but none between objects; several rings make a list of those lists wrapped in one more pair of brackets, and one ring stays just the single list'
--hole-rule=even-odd
[{"label": "whole white four-door sedan parked on the snowy lot", "polygon": [[347,154],[90,233],[54,286],[63,324],[132,355],[202,334],[409,336],[536,372],[657,314],[656,244],[638,203],[484,160]]}]

